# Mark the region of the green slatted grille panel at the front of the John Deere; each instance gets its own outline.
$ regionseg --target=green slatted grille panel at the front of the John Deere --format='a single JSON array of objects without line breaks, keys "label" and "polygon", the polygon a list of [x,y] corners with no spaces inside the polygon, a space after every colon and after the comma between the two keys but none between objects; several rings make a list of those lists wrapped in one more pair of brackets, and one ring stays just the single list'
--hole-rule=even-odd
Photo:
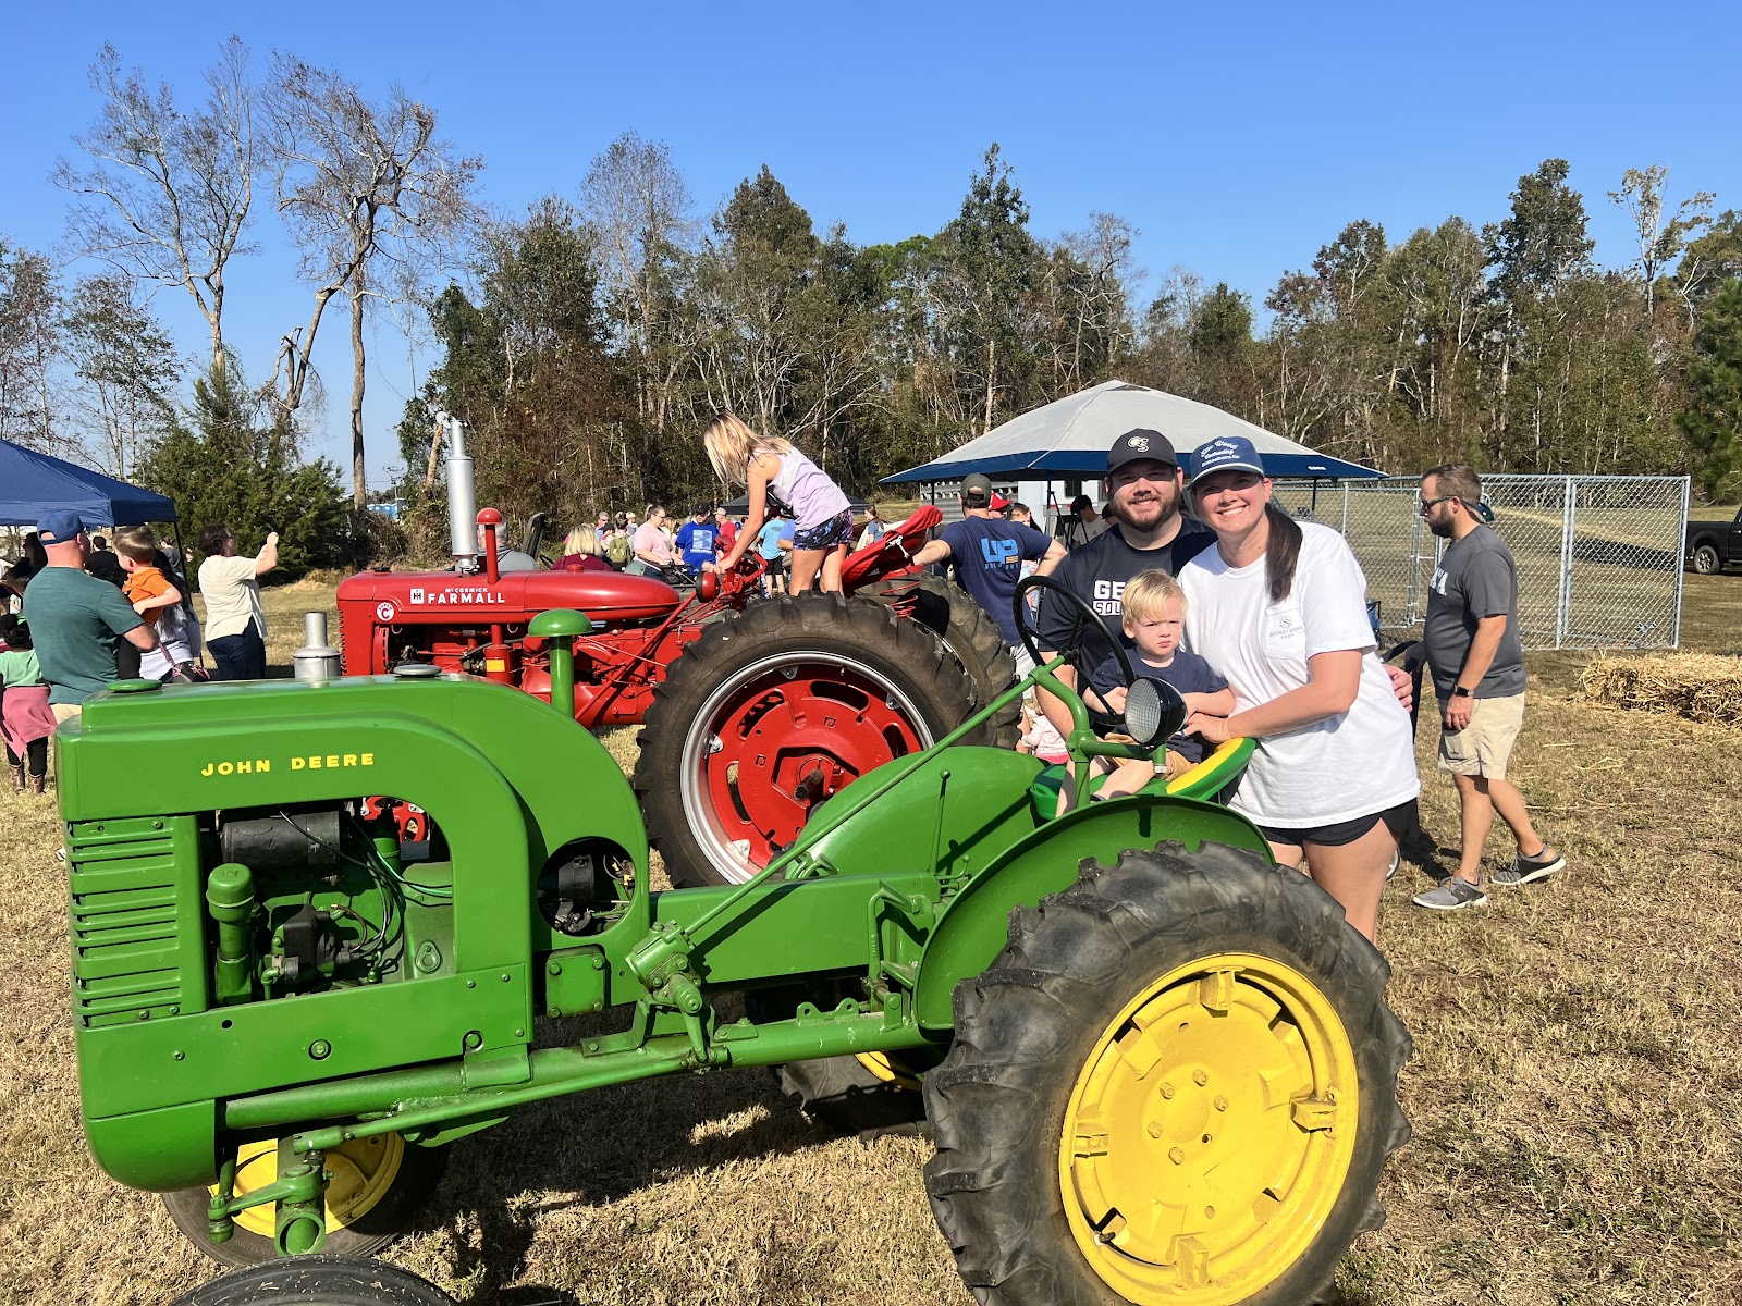
[{"label": "green slatted grille panel at the front of the John Deere", "polygon": [[80,822],[68,832],[66,860],[78,1024],[96,1029],[206,1010],[193,818]]}]

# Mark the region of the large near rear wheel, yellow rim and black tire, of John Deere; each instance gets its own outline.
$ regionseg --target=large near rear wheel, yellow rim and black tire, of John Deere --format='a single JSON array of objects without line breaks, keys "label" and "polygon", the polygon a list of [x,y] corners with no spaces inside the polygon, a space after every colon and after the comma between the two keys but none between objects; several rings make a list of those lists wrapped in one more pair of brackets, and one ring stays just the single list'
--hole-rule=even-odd
[{"label": "large near rear wheel, yellow rim and black tire, of John Deere", "polygon": [[[1380,1175],[1409,1139],[1388,975],[1317,885],[1219,845],[1085,862],[1012,912],[925,1076],[925,1186],[976,1301],[1110,1306],[1132,1299],[1120,1282],[1157,1301],[1324,1301],[1355,1235],[1383,1224]],[[1329,1087],[1326,1067],[1341,1067]]]}]

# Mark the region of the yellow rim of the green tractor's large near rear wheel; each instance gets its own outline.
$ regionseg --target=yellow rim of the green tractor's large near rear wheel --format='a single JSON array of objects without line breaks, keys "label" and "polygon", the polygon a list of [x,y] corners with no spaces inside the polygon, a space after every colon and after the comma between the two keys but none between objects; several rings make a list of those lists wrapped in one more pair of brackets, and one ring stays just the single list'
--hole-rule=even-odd
[{"label": "yellow rim of the green tractor's large near rear wheel", "polygon": [[1343,1189],[1355,1076],[1341,1019],[1293,966],[1221,953],[1167,972],[1096,1040],[1064,1111],[1077,1247],[1144,1306],[1263,1290]]}]

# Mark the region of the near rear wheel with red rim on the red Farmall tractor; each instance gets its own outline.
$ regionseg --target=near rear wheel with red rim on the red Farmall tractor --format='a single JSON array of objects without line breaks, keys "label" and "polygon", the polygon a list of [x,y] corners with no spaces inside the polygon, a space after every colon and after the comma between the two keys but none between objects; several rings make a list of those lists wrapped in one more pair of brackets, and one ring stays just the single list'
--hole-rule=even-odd
[{"label": "near rear wheel with red rim on the red Farmall tractor", "polygon": [[749,879],[817,804],[930,747],[977,702],[942,643],[866,599],[801,594],[711,625],[641,728],[634,787],[665,872],[674,885]]}]

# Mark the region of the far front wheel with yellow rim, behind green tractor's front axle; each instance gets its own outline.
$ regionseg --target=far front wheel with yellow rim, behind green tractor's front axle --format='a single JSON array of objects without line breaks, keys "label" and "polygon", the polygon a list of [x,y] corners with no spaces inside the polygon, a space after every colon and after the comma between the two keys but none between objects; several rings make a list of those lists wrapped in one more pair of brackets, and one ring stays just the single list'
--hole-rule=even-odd
[{"label": "far front wheel with yellow rim, behind green tractor's front axle", "polygon": [[[333,1175],[326,1195],[326,1243],[333,1256],[369,1256],[399,1238],[413,1215],[423,1208],[442,1170],[448,1148],[416,1148],[397,1134],[352,1139],[326,1155]],[[249,1193],[279,1177],[279,1141],[246,1142],[237,1149],[235,1191]],[[183,1188],[164,1193],[169,1219],[213,1261],[226,1266],[253,1266],[272,1261],[273,1203],[249,1207],[235,1217],[228,1242],[214,1243],[207,1231],[207,1210],[216,1188]]]}]

